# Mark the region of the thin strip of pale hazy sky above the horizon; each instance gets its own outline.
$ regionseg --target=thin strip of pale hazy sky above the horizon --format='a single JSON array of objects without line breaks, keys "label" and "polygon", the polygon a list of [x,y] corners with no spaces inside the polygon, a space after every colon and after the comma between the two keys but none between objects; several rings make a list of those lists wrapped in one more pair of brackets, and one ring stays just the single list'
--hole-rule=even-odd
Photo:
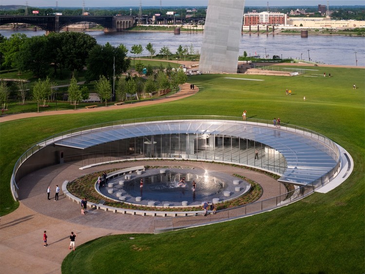
[{"label": "thin strip of pale hazy sky above the horizon", "polygon": [[[1,5],[25,5],[32,7],[55,6],[82,7],[83,0],[0,0]],[[232,0],[239,1],[239,0]],[[246,0],[245,6],[267,6],[268,0]],[[207,6],[208,0],[162,0],[163,6]],[[269,0],[270,7],[327,5],[327,0]],[[365,5],[364,0],[330,0],[329,6]],[[85,0],[85,7],[139,7],[139,0]],[[160,0],[142,0],[143,6],[160,6]]]}]

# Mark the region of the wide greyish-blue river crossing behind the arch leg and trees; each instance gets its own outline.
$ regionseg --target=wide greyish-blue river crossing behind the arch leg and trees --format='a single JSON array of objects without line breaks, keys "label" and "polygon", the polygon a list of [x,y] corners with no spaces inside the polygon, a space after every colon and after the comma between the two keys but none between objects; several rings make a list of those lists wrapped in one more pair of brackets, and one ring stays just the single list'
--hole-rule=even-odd
[{"label": "wide greyish-blue river crossing behind the arch leg and trees", "polygon": [[[0,34],[10,37],[14,33],[25,33],[28,37],[44,35],[44,31],[31,30],[0,30]],[[190,46],[194,50],[201,50],[202,33],[175,35],[173,32],[118,32],[104,33],[102,31],[89,31],[98,44],[109,42],[113,46],[124,44],[129,50],[132,45],[141,44],[144,48],[142,55],[148,55],[146,45],[151,43],[159,53],[161,47],[167,46],[175,53],[179,45]],[[308,51],[309,50],[309,51]],[[239,44],[239,55],[278,55],[282,58],[294,58],[332,65],[365,66],[365,38],[350,36],[309,36],[302,38],[300,35],[266,35],[244,34]],[[266,52],[265,52],[266,51]],[[356,54],[355,54],[356,52]],[[356,57],[356,58],[355,58]]]}]

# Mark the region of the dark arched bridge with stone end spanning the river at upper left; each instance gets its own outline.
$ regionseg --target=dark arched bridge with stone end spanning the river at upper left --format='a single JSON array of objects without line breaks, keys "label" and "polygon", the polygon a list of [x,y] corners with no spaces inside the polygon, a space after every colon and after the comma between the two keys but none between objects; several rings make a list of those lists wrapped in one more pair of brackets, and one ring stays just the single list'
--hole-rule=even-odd
[{"label": "dark arched bridge with stone end spanning the river at upper left", "polygon": [[104,27],[104,32],[118,32],[132,27],[133,16],[1,16],[0,25],[24,23],[37,26],[46,32],[61,29],[80,22],[96,23]]}]

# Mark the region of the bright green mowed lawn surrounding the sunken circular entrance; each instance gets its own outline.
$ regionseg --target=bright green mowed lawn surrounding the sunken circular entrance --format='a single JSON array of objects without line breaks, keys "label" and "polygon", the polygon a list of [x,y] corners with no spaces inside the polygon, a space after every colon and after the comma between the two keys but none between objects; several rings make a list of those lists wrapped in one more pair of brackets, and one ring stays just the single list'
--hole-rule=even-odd
[{"label": "bright green mowed lawn surrounding the sunken circular entrance", "polygon": [[[246,109],[249,119],[271,121],[279,116],[282,123],[326,135],[351,154],[354,172],[327,194],[314,193],[249,218],[160,235],[95,239],[67,256],[62,272],[364,273],[365,70],[318,69],[295,77],[194,76],[188,80],[200,92],[175,102],[0,123],[1,215],[17,207],[9,182],[18,157],[32,144],[54,133],[135,117],[240,117]],[[323,77],[324,71],[332,77]],[[320,75],[305,77],[315,73]],[[357,90],[352,90],[354,83]],[[285,95],[287,88],[292,90],[291,96]]]}]

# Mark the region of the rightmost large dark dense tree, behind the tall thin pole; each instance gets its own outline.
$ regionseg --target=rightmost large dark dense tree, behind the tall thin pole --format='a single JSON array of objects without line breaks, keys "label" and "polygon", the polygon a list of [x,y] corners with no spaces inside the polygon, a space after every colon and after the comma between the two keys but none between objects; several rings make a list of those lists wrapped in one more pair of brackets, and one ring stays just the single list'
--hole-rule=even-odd
[{"label": "rightmost large dark dense tree, behind the tall thin pole", "polygon": [[[115,61],[114,61],[115,57]],[[97,79],[100,75],[104,75],[107,79],[112,79],[115,74],[127,72],[130,66],[130,59],[126,53],[119,47],[113,47],[109,43],[105,46],[95,45],[87,59],[86,78],[91,81]]]}]

